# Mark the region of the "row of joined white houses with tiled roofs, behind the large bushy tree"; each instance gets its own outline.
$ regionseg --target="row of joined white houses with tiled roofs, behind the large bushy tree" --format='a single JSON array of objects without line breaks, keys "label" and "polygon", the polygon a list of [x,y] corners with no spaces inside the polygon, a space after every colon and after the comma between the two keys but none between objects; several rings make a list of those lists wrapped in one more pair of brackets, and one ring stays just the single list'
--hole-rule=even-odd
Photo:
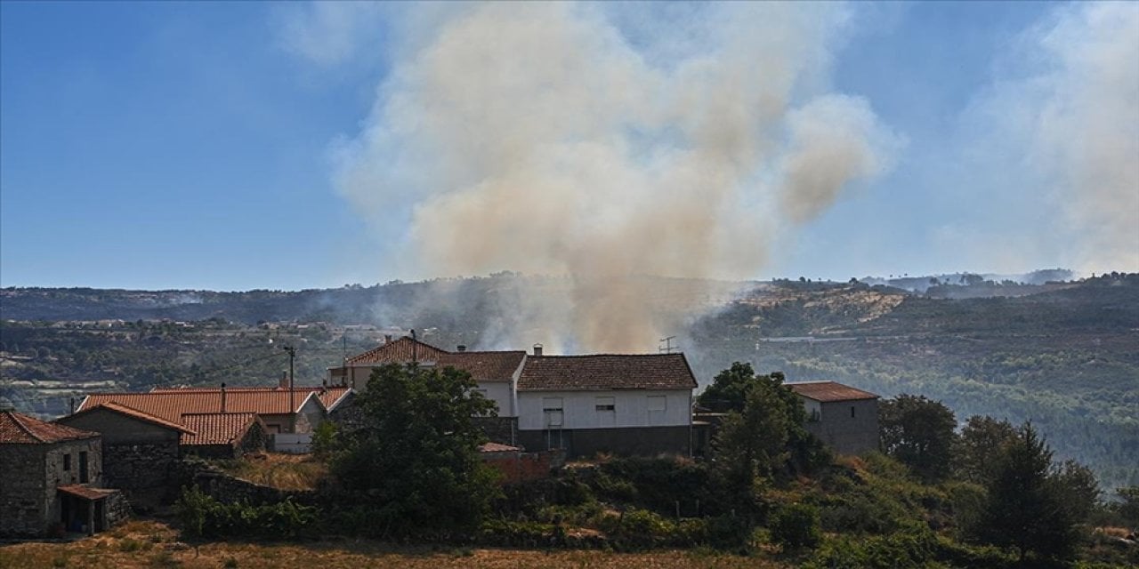
[{"label": "row of joined white houses with tiled roofs, behind the large bushy tree", "polygon": [[330,382],[363,388],[385,363],[453,366],[498,405],[495,443],[527,451],[690,453],[696,378],[683,354],[544,356],[525,352],[449,352],[412,338],[385,344],[329,369]]}]

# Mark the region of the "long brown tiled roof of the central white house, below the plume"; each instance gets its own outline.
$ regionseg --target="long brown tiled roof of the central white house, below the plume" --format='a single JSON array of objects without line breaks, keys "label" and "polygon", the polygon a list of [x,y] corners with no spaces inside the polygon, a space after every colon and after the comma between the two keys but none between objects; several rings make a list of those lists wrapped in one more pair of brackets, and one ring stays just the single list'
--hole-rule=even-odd
[{"label": "long brown tiled roof of the central white house, below the plume", "polygon": [[519,391],[695,387],[683,354],[530,356],[518,379]]}]

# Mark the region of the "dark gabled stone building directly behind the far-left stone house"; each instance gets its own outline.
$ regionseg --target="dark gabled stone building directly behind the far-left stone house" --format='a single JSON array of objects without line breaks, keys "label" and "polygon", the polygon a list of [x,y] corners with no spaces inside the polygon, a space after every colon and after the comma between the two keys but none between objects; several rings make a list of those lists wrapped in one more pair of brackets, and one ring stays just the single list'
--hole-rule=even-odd
[{"label": "dark gabled stone building directly behind the far-left stone house", "polygon": [[113,402],[83,407],[56,422],[103,436],[104,478],[137,509],[171,498],[179,439],[192,432],[189,428]]}]

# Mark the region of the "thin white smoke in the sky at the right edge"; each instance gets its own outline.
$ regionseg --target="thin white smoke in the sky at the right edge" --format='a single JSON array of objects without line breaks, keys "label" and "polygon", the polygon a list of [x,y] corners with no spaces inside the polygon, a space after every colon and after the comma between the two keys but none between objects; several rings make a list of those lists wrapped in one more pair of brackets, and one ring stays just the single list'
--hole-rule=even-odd
[{"label": "thin white smoke in the sky at the right edge", "polygon": [[1059,7],[998,64],[965,115],[976,149],[965,170],[980,173],[958,182],[1031,188],[1011,215],[1032,218],[998,225],[985,255],[1003,267],[1026,269],[1019,257],[1084,274],[1139,270],[1139,5]]}]

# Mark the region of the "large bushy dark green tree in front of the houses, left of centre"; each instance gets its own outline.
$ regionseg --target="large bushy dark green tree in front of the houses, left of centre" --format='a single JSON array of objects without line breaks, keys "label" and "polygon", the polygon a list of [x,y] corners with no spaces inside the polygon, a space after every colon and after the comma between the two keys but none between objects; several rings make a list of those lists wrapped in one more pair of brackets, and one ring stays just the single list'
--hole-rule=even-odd
[{"label": "large bushy dark green tree in front of the houses, left of centre", "polygon": [[498,475],[474,418],[494,404],[475,387],[453,368],[388,364],[357,395],[360,427],[336,436],[329,471],[378,534],[469,529],[487,511]]}]

